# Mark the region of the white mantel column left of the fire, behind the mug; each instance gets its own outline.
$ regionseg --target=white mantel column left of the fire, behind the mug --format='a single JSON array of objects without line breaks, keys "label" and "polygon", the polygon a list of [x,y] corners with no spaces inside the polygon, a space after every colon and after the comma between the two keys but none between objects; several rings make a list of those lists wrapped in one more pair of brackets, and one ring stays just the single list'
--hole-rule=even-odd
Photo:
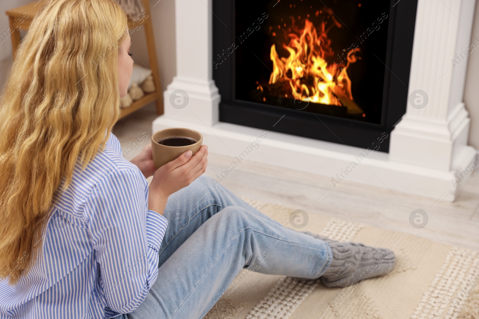
[{"label": "white mantel column left of the fire, behind the mug", "polygon": [[176,76],[163,95],[169,118],[207,125],[218,121],[212,9],[212,0],[175,0]]}]

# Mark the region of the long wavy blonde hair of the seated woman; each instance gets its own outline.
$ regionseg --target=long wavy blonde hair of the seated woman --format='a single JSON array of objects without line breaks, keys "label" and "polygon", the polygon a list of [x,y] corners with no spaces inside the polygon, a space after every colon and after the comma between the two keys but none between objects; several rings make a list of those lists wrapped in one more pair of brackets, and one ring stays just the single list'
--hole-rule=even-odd
[{"label": "long wavy blonde hair of the seated woman", "polygon": [[11,285],[75,164],[104,150],[119,118],[126,28],[115,0],[46,0],[18,48],[0,97],[0,278]]}]

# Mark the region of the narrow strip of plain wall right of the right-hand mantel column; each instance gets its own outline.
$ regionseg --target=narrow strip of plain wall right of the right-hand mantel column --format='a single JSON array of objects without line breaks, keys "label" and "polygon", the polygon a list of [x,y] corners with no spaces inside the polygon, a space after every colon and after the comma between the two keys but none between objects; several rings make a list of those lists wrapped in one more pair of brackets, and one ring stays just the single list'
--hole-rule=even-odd
[{"label": "narrow strip of plain wall right of the right-hand mantel column", "polygon": [[[468,71],[464,88],[464,102],[471,119],[469,145],[479,149],[479,5],[476,3],[474,23],[472,25],[471,41],[478,46],[468,56]],[[467,48],[464,48],[465,51]],[[470,52],[470,50],[469,50]]]}]

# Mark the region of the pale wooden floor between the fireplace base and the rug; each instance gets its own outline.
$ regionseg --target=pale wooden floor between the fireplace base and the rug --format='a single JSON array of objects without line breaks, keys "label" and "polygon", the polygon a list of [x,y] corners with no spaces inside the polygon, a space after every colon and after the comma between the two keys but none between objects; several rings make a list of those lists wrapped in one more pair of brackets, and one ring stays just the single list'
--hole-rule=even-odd
[{"label": "pale wooden floor between the fireplace base and the rug", "polygon": [[[113,132],[120,140],[124,152],[143,132],[148,132],[149,137],[148,141],[141,144],[141,148],[149,143],[151,122],[156,117],[151,104],[115,125]],[[141,148],[128,155],[127,159],[131,160]],[[205,174],[216,178],[232,161],[232,157],[209,154]],[[478,173],[472,176],[454,203],[398,191],[393,193],[388,189],[347,180],[333,188],[330,177],[248,160],[240,163],[221,185],[239,196],[304,209],[311,214],[319,213],[410,233],[435,242],[479,251]],[[414,209],[423,209],[428,214],[429,223],[425,228],[415,229],[409,223],[409,216]]]}]

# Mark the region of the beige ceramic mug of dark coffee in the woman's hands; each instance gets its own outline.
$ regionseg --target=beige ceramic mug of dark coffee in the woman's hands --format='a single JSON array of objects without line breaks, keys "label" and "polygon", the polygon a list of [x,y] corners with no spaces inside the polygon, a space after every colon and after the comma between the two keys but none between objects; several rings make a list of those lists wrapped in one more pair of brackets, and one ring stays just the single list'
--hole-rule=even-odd
[{"label": "beige ceramic mug of dark coffee in the woman's hands", "polygon": [[[158,141],[168,136],[184,136],[194,138],[197,142],[185,146],[169,146],[158,143]],[[190,150],[193,154],[198,152],[203,142],[203,136],[200,132],[183,127],[172,127],[154,132],[151,135],[151,153],[153,154],[153,163],[158,169],[162,165],[178,158],[184,152]]]}]

